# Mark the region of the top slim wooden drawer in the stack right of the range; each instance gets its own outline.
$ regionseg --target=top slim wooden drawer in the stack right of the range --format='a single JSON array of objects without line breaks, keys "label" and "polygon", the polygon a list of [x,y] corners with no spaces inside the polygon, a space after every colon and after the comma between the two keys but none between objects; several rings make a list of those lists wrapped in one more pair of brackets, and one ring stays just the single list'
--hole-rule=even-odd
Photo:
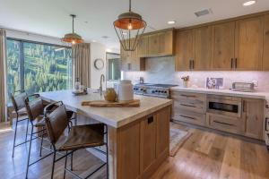
[{"label": "top slim wooden drawer in the stack right of the range", "polygon": [[194,92],[181,92],[181,91],[171,91],[171,98],[178,98],[178,99],[192,99],[192,100],[199,100],[199,101],[206,101],[205,94],[199,94]]}]

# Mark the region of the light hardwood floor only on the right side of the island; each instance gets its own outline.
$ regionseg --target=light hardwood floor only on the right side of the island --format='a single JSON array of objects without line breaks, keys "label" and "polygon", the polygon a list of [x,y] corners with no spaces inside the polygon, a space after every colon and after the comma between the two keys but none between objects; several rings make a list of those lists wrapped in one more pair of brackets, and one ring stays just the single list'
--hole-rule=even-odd
[{"label": "light hardwood floor only on the right side of the island", "polygon": [[269,153],[264,145],[180,127],[193,132],[192,136],[152,179],[269,178]]}]

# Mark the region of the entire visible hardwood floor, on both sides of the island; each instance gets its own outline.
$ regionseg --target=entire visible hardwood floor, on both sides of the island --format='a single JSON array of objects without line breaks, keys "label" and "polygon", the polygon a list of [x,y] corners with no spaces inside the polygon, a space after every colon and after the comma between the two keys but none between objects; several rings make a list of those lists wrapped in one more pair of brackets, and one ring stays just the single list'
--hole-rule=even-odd
[{"label": "entire visible hardwood floor, on both sides of the island", "polygon": [[[269,178],[269,153],[264,145],[185,125],[178,127],[193,134],[178,150],[177,155],[168,158],[151,179]],[[24,130],[24,126],[21,125],[18,134],[21,140],[24,139]],[[13,132],[1,132],[0,127],[0,178],[25,177],[28,149],[26,145],[16,148],[15,157],[12,158],[12,145]],[[35,141],[33,146],[32,158],[39,158],[39,141]],[[45,149],[43,151],[44,154],[48,152]],[[51,161],[52,158],[49,157],[31,166],[29,178],[49,178]],[[74,154],[74,169],[82,175],[86,175],[83,171],[88,169],[89,173],[100,163],[99,158],[95,158],[86,150],[79,150]],[[63,178],[63,172],[64,160],[56,163],[55,178]],[[72,178],[72,175],[66,176]],[[92,178],[106,178],[106,168]]]}]

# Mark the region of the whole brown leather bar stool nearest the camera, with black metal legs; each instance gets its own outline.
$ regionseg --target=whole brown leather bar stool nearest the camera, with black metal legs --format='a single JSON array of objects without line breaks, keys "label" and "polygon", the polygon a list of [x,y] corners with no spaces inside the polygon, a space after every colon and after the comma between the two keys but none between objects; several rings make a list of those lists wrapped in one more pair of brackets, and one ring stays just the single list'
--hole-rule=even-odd
[{"label": "whole brown leather bar stool nearest the camera, with black metal legs", "polygon": [[[107,165],[107,176],[108,176],[108,130],[106,124],[86,124],[86,125],[75,125],[72,126],[69,124],[67,119],[65,105],[60,101],[51,105],[57,104],[57,108],[54,111],[47,110],[47,106],[44,110],[45,113],[45,122],[48,131],[48,138],[54,149],[54,157],[51,171],[51,179],[54,176],[54,167],[56,161],[65,158],[65,171],[71,173],[76,178],[82,178],[79,175],[74,174],[73,172],[73,153],[78,149],[94,148],[100,146],[106,146],[107,154],[107,163],[100,165],[96,168],[90,175],[86,178],[89,178],[91,175],[95,174],[100,170],[101,167]],[[48,111],[48,112],[47,112]],[[65,137],[65,129],[68,128],[68,136]],[[106,136],[106,141],[104,140]],[[64,141],[60,139],[65,138]],[[56,152],[65,151],[65,156],[62,158],[56,159]],[[67,156],[71,155],[71,168],[66,167]],[[65,173],[64,173],[65,178]]]}]

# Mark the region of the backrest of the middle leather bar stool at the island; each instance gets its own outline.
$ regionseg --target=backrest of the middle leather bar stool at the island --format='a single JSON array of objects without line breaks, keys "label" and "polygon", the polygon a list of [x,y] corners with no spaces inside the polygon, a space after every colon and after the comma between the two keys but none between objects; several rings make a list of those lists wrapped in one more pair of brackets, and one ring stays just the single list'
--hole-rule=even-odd
[{"label": "backrest of the middle leather bar stool at the island", "polygon": [[43,115],[43,101],[39,94],[33,94],[25,98],[25,107],[30,121],[34,121],[39,115]]}]

